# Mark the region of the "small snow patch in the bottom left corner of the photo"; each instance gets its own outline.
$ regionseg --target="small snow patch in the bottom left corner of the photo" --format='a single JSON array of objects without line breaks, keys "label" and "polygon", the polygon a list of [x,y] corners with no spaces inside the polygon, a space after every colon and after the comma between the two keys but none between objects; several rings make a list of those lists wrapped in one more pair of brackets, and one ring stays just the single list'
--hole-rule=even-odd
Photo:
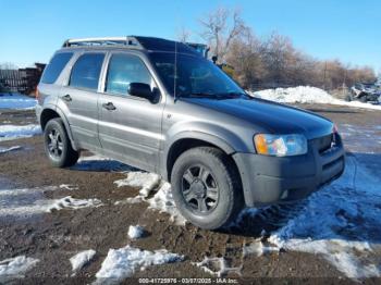
[{"label": "small snow patch in the bottom left corner of the photo", "polygon": [[0,261],[0,283],[11,278],[24,277],[24,274],[39,262],[38,259],[20,256]]}]

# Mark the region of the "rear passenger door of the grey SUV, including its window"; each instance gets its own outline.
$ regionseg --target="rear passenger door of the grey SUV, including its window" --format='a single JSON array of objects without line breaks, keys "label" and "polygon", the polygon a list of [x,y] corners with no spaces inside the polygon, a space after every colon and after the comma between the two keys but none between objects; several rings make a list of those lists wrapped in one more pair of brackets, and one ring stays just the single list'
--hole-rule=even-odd
[{"label": "rear passenger door of the grey SUV, including its window", "polygon": [[106,53],[85,52],[72,66],[67,85],[60,99],[67,108],[69,124],[74,140],[81,148],[100,149],[98,138],[99,76]]}]

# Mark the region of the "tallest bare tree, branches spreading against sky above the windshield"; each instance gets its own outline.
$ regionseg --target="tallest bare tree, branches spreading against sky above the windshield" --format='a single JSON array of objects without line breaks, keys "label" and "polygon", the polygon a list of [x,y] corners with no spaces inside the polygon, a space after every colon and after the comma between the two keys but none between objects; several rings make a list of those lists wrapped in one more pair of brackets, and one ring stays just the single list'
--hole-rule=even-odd
[{"label": "tallest bare tree, branches spreading against sky above the windshield", "polygon": [[235,38],[247,29],[239,10],[219,8],[200,20],[204,30],[201,37],[208,41],[211,51],[219,61],[225,60],[225,55]]}]

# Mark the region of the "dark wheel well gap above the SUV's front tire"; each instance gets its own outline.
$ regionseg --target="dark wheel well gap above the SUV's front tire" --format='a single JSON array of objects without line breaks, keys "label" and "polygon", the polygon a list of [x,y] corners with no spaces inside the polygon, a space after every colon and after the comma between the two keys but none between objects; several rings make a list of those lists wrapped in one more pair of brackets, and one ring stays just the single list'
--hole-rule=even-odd
[{"label": "dark wheel well gap above the SUV's front tire", "polygon": [[[217,148],[217,149],[221,150],[228,157],[228,153],[223,149],[221,149],[220,147],[218,147],[218,146],[216,146],[213,144],[210,144],[208,141],[205,141],[205,140],[201,140],[201,139],[195,139],[195,138],[180,139],[180,140],[177,140],[176,142],[174,142],[171,146],[171,149],[170,149],[170,151],[168,153],[168,157],[167,157],[167,176],[168,176],[168,181],[169,182],[171,182],[172,169],[173,169],[173,164],[176,161],[176,159],[184,151],[186,151],[188,149],[192,149],[192,148],[197,148],[197,147],[213,147],[213,148]],[[231,161],[236,166],[234,160],[231,159]]]}]

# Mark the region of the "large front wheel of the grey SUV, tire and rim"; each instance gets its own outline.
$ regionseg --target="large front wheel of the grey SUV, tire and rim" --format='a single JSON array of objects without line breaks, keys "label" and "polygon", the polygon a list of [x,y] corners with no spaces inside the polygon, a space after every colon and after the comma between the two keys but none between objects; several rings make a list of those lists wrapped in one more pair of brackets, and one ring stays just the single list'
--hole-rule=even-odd
[{"label": "large front wheel of the grey SUV, tire and rim", "polygon": [[243,209],[238,173],[219,149],[199,147],[182,153],[173,165],[171,183],[179,211],[198,227],[226,226]]}]

